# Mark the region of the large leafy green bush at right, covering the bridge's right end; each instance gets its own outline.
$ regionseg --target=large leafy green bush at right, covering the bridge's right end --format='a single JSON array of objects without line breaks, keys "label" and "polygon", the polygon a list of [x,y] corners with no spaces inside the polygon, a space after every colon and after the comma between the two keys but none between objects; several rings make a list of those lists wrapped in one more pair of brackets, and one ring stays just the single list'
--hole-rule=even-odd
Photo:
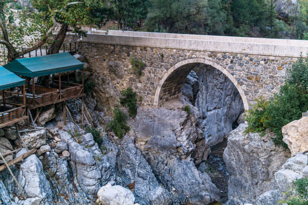
[{"label": "large leafy green bush at right, covering the bridge's right end", "polygon": [[265,132],[266,129],[276,134],[275,144],[282,144],[281,128],[301,118],[308,110],[308,63],[299,58],[288,71],[288,79],[281,86],[278,94],[270,100],[259,98],[246,113],[248,127],[246,132]]}]

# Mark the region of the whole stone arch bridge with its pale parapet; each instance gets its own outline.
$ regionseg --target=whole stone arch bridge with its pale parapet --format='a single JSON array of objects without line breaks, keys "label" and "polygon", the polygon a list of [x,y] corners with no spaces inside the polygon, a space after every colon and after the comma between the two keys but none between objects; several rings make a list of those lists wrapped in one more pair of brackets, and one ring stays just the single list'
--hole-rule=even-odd
[{"label": "whole stone arch bridge with its pale parapet", "polygon": [[[292,62],[300,53],[306,57],[308,41],[92,30],[78,47],[95,72],[118,89],[132,87],[145,108],[179,96],[188,73],[203,63],[235,84],[247,110],[257,96],[279,90]],[[146,64],[140,77],[131,71],[131,57]]]}]

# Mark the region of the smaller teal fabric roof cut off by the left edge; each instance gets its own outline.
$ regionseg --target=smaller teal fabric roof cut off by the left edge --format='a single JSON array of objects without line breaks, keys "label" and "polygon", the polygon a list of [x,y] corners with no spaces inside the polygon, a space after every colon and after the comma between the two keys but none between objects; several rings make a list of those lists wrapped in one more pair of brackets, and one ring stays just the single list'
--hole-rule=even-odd
[{"label": "smaller teal fabric roof cut off by the left edge", "polygon": [[16,87],[26,83],[26,80],[0,66],[0,90]]}]

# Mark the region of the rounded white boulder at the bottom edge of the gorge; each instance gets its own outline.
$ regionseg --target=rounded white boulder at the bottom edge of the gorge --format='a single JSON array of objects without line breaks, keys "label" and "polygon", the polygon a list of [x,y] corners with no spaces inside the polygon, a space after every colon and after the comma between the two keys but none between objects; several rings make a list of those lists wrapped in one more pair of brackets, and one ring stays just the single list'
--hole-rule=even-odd
[{"label": "rounded white boulder at the bottom edge of the gorge", "polygon": [[103,205],[133,205],[134,194],[119,185],[107,184],[98,191],[98,197]]}]

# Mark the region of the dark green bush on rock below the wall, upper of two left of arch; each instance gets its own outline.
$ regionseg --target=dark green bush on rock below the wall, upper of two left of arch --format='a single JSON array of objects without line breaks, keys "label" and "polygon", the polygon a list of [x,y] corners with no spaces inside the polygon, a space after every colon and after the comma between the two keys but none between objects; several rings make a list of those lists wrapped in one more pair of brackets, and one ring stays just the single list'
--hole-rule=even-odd
[{"label": "dark green bush on rock below the wall, upper of two left of arch", "polygon": [[135,117],[137,115],[137,93],[131,87],[121,91],[123,97],[120,98],[120,104],[128,107],[128,115]]}]

